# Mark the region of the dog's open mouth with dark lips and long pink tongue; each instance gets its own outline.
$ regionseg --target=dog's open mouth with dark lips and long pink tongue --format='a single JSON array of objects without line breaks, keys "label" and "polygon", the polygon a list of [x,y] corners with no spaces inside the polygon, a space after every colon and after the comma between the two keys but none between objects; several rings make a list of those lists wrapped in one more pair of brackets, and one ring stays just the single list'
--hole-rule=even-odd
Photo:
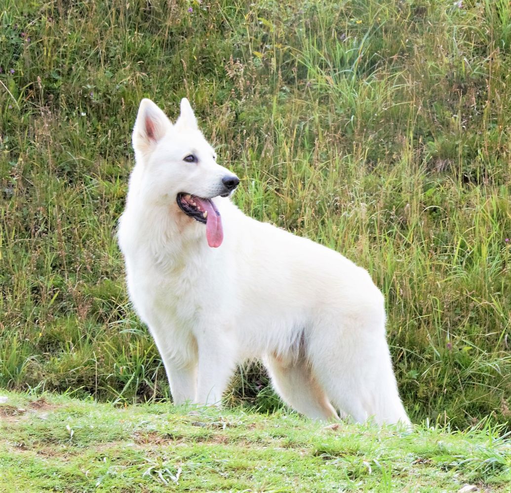
[{"label": "dog's open mouth with dark lips and long pink tongue", "polygon": [[211,199],[202,199],[190,193],[178,193],[177,205],[190,217],[206,225],[207,244],[217,248],[222,244],[223,230],[220,212]]}]

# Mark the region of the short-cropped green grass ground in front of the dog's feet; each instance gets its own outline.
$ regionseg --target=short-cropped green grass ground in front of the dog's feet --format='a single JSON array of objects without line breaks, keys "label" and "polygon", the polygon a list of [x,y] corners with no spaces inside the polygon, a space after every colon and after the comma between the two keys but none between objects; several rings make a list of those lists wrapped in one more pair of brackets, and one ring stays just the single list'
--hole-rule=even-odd
[{"label": "short-cropped green grass ground in front of the dog's feet", "polygon": [[[114,407],[2,392],[0,490],[508,491],[511,443],[489,422],[452,433],[341,424],[285,412]],[[9,486],[11,485],[11,486]]]}]

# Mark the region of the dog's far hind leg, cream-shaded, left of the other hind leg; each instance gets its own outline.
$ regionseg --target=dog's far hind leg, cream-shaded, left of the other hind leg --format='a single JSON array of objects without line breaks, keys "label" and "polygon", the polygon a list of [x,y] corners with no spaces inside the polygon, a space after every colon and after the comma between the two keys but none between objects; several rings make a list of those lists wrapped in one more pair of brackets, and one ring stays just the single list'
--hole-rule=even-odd
[{"label": "dog's far hind leg, cream-shaded, left of the other hind leg", "polygon": [[264,364],[278,395],[293,409],[315,420],[339,419],[304,358],[286,363],[280,358],[266,356]]}]

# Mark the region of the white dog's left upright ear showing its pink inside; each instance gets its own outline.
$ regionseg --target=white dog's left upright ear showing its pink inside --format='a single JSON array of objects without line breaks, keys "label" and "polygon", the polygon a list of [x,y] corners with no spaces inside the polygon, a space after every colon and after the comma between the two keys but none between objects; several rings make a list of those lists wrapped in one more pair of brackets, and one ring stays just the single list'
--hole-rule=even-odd
[{"label": "white dog's left upright ear showing its pink inside", "polygon": [[151,100],[144,98],[138,107],[133,127],[133,149],[147,153],[172,127],[167,115]]}]

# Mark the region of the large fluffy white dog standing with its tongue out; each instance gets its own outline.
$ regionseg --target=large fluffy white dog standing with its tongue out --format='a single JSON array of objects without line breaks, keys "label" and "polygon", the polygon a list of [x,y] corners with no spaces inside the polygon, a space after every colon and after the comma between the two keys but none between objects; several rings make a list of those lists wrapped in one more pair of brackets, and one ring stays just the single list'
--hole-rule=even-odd
[{"label": "large fluffy white dog standing with its tongue out", "polygon": [[262,358],[282,399],[312,418],[409,424],[385,339],[383,296],[339,253],[245,216],[187,99],[173,125],[144,99],[119,244],[129,294],[174,403],[218,404]]}]

